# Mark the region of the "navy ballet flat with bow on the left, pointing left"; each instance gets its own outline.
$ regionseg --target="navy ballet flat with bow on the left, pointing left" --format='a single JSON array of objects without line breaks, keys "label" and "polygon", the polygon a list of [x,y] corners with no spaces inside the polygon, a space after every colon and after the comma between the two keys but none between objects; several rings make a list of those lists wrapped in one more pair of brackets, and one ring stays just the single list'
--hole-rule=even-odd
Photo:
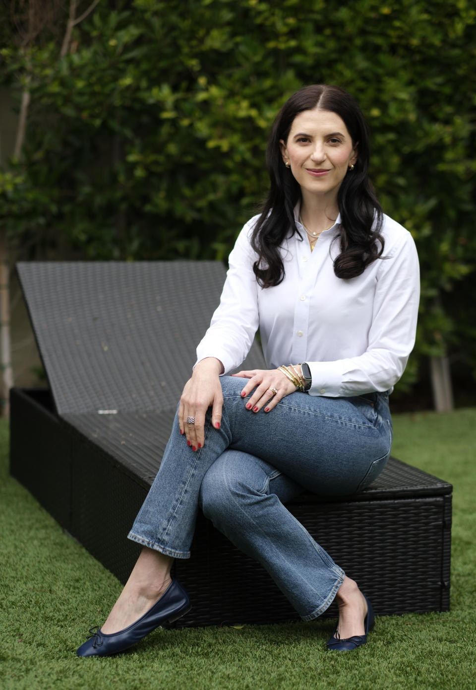
[{"label": "navy ballet flat with bow on the left, pointing left", "polygon": [[110,635],[101,632],[97,626],[91,628],[86,642],[81,644],[76,653],[78,656],[117,654],[132,647],[159,625],[174,622],[191,608],[189,596],[183,586],[177,580],[172,580],[158,602],[135,623]]}]

